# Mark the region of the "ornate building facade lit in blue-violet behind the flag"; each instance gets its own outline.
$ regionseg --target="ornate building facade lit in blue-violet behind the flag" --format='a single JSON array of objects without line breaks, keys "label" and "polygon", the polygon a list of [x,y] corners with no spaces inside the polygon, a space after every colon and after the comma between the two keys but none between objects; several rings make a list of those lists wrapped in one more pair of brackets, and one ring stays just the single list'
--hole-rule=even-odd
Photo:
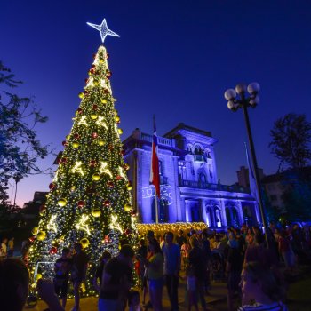
[{"label": "ornate building facade lit in blue-violet behind the flag", "polygon": [[[258,224],[259,209],[249,190],[219,183],[214,145],[218,140],[186,124],[158,137],[161,180],[159,222],[203,221],[209,227]],[[156,222],[155,188],[149,184],[152,135],[136,129],[124,140],[133,204],[141,223]]]}]

